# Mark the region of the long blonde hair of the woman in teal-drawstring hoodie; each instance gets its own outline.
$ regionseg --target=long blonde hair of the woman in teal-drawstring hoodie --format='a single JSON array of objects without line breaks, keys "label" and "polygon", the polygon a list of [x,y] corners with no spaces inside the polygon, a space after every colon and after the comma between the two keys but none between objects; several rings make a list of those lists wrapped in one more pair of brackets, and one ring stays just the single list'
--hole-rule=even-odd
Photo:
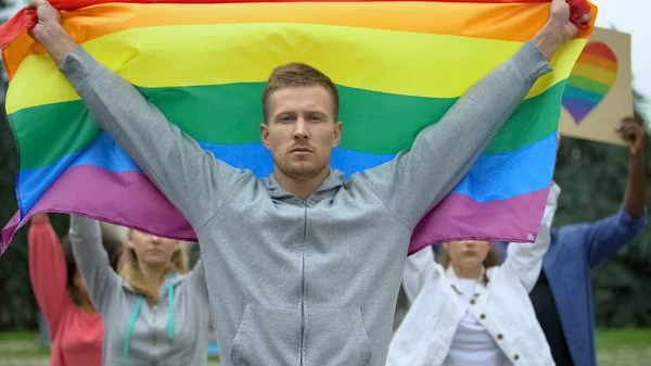
[{"label": "long blonde hair of the woman in teal-drawstring hoodie", "polygon": [[[130,239],[133,235],[132,229],[127,229],[127,238]],[[171,255],[171,266],[167,268],[167,274],[175,273],[184,275],[188,273],[188,253],[186,251],[186,244],[179,241],[179,249]],[[119,276],[127,280],[129,285],[136,290],[148,298],[152,302],[158,300],[158,288],[146,283],[138,266],[138,255],[136,251],[127,245],[125,247],[119,263]]]}]

